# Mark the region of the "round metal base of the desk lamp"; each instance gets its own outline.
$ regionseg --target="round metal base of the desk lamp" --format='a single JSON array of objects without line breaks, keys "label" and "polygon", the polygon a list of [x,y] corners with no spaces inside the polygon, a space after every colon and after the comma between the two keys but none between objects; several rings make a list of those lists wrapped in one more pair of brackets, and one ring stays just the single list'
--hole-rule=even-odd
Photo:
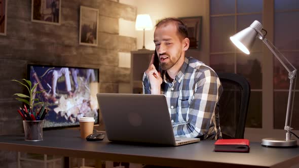
[{"label": "round metal base of the desk lamp", "polygon": [[291,139],[286,141],[281,138],[264,138],[261,140],[261,145],[273,148],[295,148],[297,147],[297,141]]}]

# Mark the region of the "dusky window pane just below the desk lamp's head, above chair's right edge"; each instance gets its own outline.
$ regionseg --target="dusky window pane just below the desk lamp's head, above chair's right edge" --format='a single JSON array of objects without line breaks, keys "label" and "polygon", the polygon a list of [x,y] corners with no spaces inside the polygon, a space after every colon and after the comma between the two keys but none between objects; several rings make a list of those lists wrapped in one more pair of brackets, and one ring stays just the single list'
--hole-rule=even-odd
[{"label": "dusky window pane just below the desk lamp's head, above chair's right edge", "polygon": [[237,73],[246,77],[251,89],[262,89],[261,87],[261,62],[262,53],[237,54]]}]

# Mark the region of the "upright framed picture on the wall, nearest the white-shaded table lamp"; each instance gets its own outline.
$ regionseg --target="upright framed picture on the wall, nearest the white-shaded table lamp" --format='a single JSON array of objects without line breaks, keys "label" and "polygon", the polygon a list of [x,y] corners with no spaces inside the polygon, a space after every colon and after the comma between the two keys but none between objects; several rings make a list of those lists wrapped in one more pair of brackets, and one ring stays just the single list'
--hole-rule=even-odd
[{"label": "upright framed picture on the wall, nearest the white-shaded table lamp", "polygon": [[80,6],[79,45],[98,45],[99,10]]}]

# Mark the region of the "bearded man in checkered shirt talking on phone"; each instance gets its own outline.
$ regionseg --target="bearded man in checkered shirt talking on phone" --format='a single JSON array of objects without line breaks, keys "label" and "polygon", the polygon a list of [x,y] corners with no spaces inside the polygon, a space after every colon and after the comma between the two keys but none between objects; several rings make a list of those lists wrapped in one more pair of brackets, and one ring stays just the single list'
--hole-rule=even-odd
[{"label": "bearded man in checkered shirt talking on phone", "polygon": [[185,57],[190,43],[186,26],[176,18],[161,20],[154,43],[161,72],[153,65],[153,54],[143,75],[143,93],[166,95],[176,137],[221,138],[217,102],[222,87],[210,67]]}]

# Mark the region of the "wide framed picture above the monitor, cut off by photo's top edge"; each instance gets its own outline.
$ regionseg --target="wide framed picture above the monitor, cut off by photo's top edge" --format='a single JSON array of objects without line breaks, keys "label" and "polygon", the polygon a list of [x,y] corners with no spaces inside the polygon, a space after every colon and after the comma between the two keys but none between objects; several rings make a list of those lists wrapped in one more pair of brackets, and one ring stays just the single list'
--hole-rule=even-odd
[{"label": "wide framed picture above the monitor, cut off by photo's top edge", "polygon": [[31,21],[60,25],[61,0],[31,0]]}]

